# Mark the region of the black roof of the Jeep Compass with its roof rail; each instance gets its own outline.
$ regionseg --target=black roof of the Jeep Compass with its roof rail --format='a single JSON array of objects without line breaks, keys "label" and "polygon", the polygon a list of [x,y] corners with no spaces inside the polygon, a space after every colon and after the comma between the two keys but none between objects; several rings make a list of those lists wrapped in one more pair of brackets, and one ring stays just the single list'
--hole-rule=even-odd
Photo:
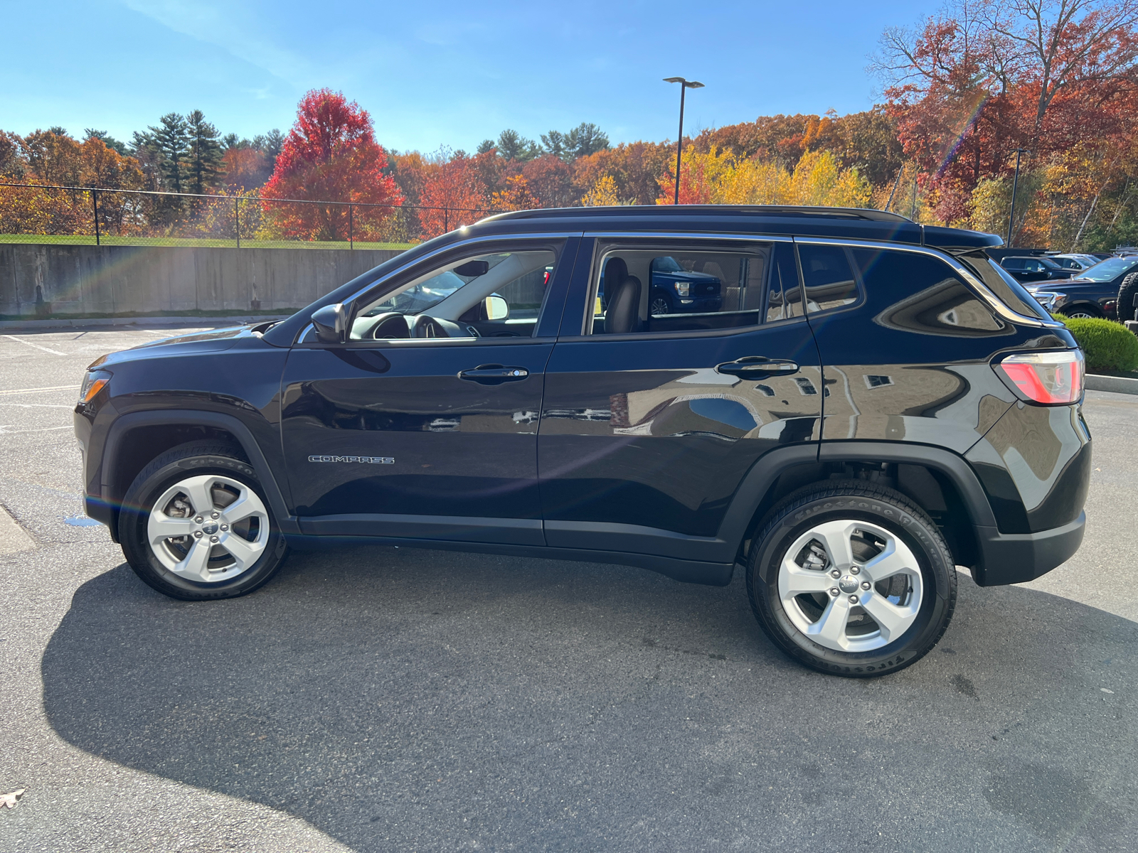
[{"label": "black roof of the Jeep Compass with its roof rail", "polygon": [[920,225],[888,210],[784,205],[620,205],[512,210],[481,220],[470,231],[533,233],[547,230],[551,221],[567,231],[666,229],[690,233],[793,234],[934,246],[956,251],[987,249],[1004,242],[995,234],[979,231]]}]

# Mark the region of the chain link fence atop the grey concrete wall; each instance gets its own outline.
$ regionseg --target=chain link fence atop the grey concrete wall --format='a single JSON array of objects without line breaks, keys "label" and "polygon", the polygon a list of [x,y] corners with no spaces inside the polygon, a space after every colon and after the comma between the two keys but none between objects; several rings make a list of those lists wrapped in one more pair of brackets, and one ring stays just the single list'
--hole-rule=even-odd
[{"label": "chain link fence atop the grey concrete wall", "polygon": [[488,208],[0,183],[0,242],[405,249]]}]

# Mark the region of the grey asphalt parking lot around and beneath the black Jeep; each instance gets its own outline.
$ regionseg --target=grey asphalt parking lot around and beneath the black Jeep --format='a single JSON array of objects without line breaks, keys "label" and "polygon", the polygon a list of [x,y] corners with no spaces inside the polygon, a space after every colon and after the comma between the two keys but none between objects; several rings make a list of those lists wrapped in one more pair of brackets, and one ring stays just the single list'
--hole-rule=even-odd
[{"label": "grey asphalt parking lot around and beneath the black Jeep", "polygon": [[1138,848],[1138,397],[1088,392],[1069,563],[962,577],[937,649],[852,681],[775,651],[741,573],[355,547],[154,593],[71,422],[88,363],[168,334],[0,334],[34,544],[0,555],[0,851]]}]

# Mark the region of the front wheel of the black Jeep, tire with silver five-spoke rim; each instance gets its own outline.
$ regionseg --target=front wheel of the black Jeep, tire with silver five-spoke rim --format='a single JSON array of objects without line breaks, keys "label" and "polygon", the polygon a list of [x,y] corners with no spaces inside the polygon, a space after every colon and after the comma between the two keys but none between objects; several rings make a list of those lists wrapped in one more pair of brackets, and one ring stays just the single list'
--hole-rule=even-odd
[{"label": "front wheel of the black Jeep, tire with silver five-spoke rim", "polygon": [[288,545],[242,457],[232,446],[197,441],[167,450],[134,478],[118,540],[147,585],[201,602],[251,593],[277,573]]}]

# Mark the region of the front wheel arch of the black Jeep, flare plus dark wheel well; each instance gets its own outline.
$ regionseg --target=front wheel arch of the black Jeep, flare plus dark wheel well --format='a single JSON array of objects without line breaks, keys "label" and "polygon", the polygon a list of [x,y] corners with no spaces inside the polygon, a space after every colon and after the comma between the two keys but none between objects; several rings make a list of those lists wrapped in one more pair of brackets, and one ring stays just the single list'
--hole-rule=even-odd
[{"label": "front wheel arch of the black Jeep, flare plus dark wheel well", "polygon": [[[133,412],[118,417],[104,446],[101,512],[94,514],[94,507],[89,507],[88,514],[107,523],[114,537],[122,499],[138,473],[159,454],[193,440],[224,441],[240,449],[256,470],[281,531],[298,532],[277,477],[249,428],[233,415],[196,409]],[[100,517],[104,515],[107,517]]]}]

